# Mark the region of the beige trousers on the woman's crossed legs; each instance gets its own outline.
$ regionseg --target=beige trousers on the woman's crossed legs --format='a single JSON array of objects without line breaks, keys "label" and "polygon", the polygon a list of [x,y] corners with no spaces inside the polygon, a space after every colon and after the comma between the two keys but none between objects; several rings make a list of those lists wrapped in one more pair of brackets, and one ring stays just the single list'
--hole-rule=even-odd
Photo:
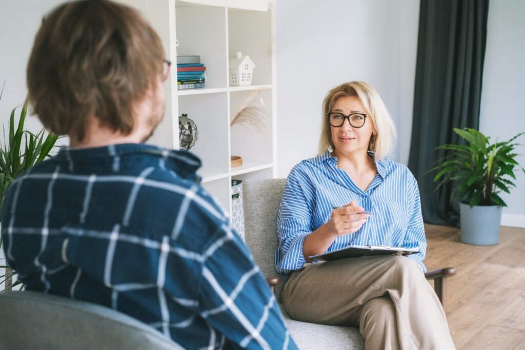
[{"label": "beige trousers on the woman's crossed legs", "polygon": [[403,256],[307,264],[282,292],[298,321],[359,327],[365,349],[454,349],[447,319],[421,268]]}]

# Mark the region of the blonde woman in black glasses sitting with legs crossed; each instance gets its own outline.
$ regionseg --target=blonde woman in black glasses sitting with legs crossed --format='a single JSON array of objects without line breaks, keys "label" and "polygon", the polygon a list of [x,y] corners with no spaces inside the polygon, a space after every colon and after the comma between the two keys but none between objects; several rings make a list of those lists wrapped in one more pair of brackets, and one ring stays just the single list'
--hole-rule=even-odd
[{"label": "blonde woman in black glasses sitting with legs crossed", "polygon": [[[319,155],[293,167],[279,209],[276,270],[291,273],[283,303],[296,320],[359,327],[366,349],[453,349],[445,313],[423,273],[416,180],[385,158],[395,139],[392,118],[371,86],[353,81],[328,92]],[[350,245],[420,252],[309,258]]]}]

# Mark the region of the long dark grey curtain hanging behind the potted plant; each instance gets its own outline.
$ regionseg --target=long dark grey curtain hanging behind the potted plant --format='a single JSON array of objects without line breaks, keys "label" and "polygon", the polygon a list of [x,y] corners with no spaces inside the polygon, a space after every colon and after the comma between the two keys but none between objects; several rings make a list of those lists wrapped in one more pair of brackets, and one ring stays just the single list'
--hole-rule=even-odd
[{"label": "long dark grey curtain hanging behind the potted plant", "polygon": [[430,224],[458,225],[451,184],[435,191],[436,172],[428,171],[445,155],[436,146],[458,142],[453,128],[478,129],[488,6],[488,0],[421,0],[408,167]]}]

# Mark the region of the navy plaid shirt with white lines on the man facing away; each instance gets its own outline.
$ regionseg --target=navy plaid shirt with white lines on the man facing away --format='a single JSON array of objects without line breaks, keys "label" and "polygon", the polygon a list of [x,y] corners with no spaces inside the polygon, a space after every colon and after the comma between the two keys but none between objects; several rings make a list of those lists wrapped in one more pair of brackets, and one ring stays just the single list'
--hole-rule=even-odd
[{"label": "navy plaid shirt with white lines on the man facing away", "polygon": [[7,260],[28,290],[112,307],[188,349],[297,348],[201,162],[144,144],[62,148],[7,190]]}]

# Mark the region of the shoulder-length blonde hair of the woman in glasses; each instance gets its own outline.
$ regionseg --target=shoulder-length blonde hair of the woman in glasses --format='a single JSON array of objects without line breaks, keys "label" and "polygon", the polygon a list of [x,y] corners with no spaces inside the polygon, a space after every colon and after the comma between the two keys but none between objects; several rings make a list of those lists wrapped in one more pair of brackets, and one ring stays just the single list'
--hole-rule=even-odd
[{"label": "shoulder-length blonde hair of the woman in glasses", "polygon": [[328,91],[324,97],[319,154],[335,149],[328,113],[337,99],[350,96],[359,98],[366,113],[369,114],[366,120],[370,120],[374,125],[376,134],[370,139],[369,151],[375,152],[376,160],[386,157],[392,152],[397,137],[394,121],[377,91],[363,81],[343,83]]}]

